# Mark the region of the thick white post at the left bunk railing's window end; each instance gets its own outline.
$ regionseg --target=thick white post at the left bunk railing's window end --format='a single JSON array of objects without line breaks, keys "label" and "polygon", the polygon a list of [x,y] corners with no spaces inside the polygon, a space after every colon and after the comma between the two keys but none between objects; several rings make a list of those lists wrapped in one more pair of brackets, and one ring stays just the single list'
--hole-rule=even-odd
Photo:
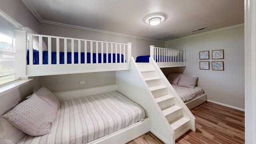
[{"label": "thick white post at the left bunk railing's window end", "polygon": [[26,30],[15,30],[15,71],[16,77],[26,76],[26,65],[27,65],[27,35]]}]

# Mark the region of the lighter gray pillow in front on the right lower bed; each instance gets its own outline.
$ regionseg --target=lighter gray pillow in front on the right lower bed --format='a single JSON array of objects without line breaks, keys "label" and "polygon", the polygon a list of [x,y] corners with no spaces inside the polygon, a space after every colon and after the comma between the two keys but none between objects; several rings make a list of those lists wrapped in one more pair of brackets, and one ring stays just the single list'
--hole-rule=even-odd
[{"label": "lighter gray pillow in front on the right lower bed", "polygon": [[188,87],[188,88],[195,88],[197,79],[198,79],[198,77],[195,77],[195,76],[182,75],[180,77],[180,81],[178,83],[178,86],[184,86],[184,87]]}]

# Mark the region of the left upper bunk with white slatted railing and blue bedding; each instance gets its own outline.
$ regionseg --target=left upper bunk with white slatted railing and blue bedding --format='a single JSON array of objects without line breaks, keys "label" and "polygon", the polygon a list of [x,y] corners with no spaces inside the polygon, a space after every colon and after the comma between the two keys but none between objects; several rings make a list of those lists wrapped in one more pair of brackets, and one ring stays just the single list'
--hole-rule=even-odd
[{"label": "left upper bunk with white slatted railing and blue bedding", "polygon": [[128,70],[131,46],[16,30],[16,76]]}]

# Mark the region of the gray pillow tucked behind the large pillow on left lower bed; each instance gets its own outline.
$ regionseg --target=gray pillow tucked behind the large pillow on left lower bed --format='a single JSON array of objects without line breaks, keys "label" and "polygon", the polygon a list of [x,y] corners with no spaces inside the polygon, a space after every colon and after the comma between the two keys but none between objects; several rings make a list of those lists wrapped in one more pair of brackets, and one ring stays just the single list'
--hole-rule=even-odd
[{"label": "gray pillow tucked behind the large pillow on left lower bed", "polygon": [[42,87],[38,91],[36,91],[35,94],[55,109],[58,109],[58,107],[60,106],[59,100],[47,88]]}]

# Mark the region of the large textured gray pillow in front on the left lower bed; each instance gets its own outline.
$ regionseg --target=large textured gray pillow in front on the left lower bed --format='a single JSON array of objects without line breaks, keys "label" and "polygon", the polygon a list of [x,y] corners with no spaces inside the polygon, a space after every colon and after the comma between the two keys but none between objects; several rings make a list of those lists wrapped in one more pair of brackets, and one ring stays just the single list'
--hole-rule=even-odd
[{"label": "large textured gray pillow in front on the left lower bed", "polygon": [[28,100],[15,106],[1,116],[10,124],[31,136],[42,136],[51,132],[57,110],[33,94]]}]

